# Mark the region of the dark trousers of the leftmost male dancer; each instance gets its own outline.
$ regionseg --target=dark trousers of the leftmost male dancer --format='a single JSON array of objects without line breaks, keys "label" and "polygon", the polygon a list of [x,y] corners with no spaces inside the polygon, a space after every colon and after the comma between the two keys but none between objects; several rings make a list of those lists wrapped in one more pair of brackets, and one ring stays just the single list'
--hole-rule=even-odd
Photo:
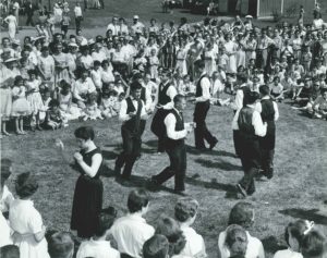
[{"label": "dark trousers of the leftmost male dancer", "polygon": [[116,160],[116,167],[124,170],[122,177],[129,179],[132,174],[133,165],[141,152],[141,135],[135,135],[122,127],[121,130],[123,140],[123,151],[118,156]]}]

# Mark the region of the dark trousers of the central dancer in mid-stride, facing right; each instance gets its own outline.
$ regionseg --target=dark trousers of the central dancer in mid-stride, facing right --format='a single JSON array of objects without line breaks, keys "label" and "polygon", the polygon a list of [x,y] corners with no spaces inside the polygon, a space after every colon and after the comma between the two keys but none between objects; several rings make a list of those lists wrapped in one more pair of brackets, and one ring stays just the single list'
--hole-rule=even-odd
[{"label": "dark trousers of the central dancer in mid-stride, facing right", "polygon": [[170,177],[174,176],[174,189],[184,191],[185,189],[185,173],[186,173],[186,148],[184,143],[174,146],[173,148],[166,148],[169,156],[170,165],[162,170],[161,173],[155,175],[153,180],[157,184],[162,184]]}]

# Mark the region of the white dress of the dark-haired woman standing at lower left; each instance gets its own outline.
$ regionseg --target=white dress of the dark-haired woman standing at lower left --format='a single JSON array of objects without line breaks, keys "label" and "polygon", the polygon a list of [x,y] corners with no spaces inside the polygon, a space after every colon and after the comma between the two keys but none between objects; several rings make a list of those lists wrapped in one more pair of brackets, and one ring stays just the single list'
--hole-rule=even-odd
[{"label": "white dress of the dark-haired woman standing at lower left", "polygon": [[46,238],[36,242],[34,234],[43,230],[43,218],[32,200],[15,199],[9,211],[11,229],[21,234],[14,244],[20,247],[21,258],[50,258]]}]

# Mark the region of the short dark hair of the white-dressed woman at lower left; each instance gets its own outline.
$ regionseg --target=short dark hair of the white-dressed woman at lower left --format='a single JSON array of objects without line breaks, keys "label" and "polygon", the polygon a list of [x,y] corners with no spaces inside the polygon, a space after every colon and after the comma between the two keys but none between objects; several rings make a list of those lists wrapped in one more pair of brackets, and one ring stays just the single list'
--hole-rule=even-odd
[{"label": "short dark hair of the white-dressed woman at lower left", "polygon": [[38,188],[38,183],[29,172],[17,175],[15,182],[15,189],[16,189],[16,194],[21,198],[27,198],[32,196],[33,194],[35,194],[37,188]]}]

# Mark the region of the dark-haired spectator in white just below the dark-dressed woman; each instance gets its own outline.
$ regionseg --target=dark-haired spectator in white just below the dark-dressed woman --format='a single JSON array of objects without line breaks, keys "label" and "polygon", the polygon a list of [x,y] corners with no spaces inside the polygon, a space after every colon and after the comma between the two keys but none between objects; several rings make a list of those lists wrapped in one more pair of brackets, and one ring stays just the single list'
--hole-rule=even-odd
[{"label": "dark-haired spectator in white just below the dark-dressed woman", "polygon": [[89,241],[82,242],[76,258],[120,258],[119,251],[113,249],[110,242],[106,239],[116,216],[117,211],[112,207],[99,214],[98,229],[95,235]]}]

